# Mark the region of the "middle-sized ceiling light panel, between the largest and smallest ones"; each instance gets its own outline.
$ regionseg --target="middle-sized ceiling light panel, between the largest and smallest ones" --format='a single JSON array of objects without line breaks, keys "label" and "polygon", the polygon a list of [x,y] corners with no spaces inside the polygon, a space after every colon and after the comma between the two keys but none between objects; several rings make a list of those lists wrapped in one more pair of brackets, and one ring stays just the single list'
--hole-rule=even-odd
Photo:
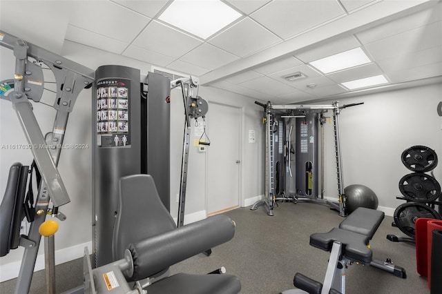
[{"label": "middle-sized ceiling light panel, between the largest and smallest ones", "polygon": [[365,52],[358,47],[316,61],[311,61],[310,64],[327,74],[354,66],[361,66],[361,64],[370,62],[372,61],[365,55]]}]

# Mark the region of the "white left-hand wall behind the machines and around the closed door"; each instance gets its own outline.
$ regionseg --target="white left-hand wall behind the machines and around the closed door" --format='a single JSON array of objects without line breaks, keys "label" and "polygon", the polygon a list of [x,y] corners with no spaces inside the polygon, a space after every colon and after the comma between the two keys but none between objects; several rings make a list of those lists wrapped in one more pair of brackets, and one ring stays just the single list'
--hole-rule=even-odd
[{"label": "white left-hand wall behind the machines and around the closed door", "polygon": [[[15,72],[15,57],[12,51],[0,47],[1,72],[0,80],[12,79]],[[104,52],[95,48],[82,46],[77,43],[66,41],[62,55],[88,68],[96,69],[106,64],[117,64],[140,68],[142,75],[151,70],[151,65],[136,61],[110,52]],[[46,72],[46,71],[45,71]],[[46,85],[51,88],[50,84]],[[210,87],[201,87],[199,95],[207,101],[231,104],[242,108],[242,199],[257,197],[263,194],[263,188],[256,183],[262,179],[262,138],[264,137],[260,124],[262,108],[253,104],[253,99],[242,95],[233,94]],[[55,95],[45,91],[44,101],[52,104]],[[65,143],[66,144],[91,144],[91,92],[82,90],[75,108],[70,115]],[[33,104],[35,115],[39,121],[43,134],[52,131],[55,110],[42,104]],[[0,99],[0,146],[27,144],[23,135],[17,115],[10,101]],[[210,115],[210,110],[207,116]],[[222,126],[220,126],[222,127]],[[247,143],[249,129],[256,130],[256,143]],[[182,97],[179,90],[173,90],[171,102],[171,215],[177,217],[176,194],[180,184],[180,164],[182,154],[182,140],[184,130],[184,110]],[[87,149],[63,150],[59,160],[59,173],[64,179],[71,202],[61,206],[60,210],[67,217],[66,221],[60,222],[60,228],[55,235],[56,263],[81,257],[84,246],[91,245],[91,191],[92,191],[92,146]],[[30,150],[17,148],[1,148],[0,150],[0,199],[6,188],[9,167],[16,161],[23,164],[31,164],[32,154]],[[198,153],[191,148],[189,154],[189,175],[187,184],[186,222],[192,222],[206,217],[205,215],[205,170],[206,161],[204,153]],[[222,171],[220,171],[222,175]],[[244,201],[244,200],[243,200]],[[41,244],[42,245],[42,244]],[[42,254],[43,246],[39,254]],[[0,281],[16,277],[23,255],[23,248],[11,251],[5,257],[0,258]],[[44,267],[44,259],[39,255],[36,270]]]}]

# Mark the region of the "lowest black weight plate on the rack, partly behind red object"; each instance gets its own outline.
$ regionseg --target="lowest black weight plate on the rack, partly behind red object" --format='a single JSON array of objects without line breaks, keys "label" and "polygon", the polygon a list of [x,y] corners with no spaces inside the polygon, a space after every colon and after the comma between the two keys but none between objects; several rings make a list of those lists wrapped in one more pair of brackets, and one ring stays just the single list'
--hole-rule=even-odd
[{"label": "lowest black weight plate on the rack, partly behind red object", "polygon": [[436,210],[417,202],[407,202],[399,205],[396,210],[394,210],[393,217],[396,226],[405,233],[405,235],[413,238],[415,235],[414,223],[419,217],[442,219]]}]

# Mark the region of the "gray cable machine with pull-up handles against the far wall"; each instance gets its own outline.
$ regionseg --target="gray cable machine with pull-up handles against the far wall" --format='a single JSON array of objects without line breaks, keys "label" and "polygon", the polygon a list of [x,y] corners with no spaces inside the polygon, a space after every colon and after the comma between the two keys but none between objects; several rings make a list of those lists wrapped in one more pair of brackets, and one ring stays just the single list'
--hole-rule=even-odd
[{"label": "gray cable machine with pull-up handles against the far wall", "polygon": [[[272,216],[273,206],[277,202],[307,201],[327,205],[338,210],[340,216],[347,216],[339,115],[343,108],[363,103],[344,106],[339,106],[337,101],[331,105],[273,105],[270,101],[267,104],[255,103],[265,111],[265,197],[253,204],[251,210],[265,206],[267,215]],[[338,202],[324,199],[323,191],[319,191],[319,177],[322,177],[323,187],[323,168],[319,168],[323,136],[319,135],[319,126],[322,128],[325,124],[324,113],[329,110],[333,111]]]}]

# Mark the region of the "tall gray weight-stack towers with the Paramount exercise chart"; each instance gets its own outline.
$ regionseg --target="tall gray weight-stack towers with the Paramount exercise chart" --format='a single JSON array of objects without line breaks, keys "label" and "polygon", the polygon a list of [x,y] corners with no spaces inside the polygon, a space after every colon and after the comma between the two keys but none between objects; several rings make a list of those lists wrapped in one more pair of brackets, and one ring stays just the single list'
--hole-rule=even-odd
[{"label": "tall gray weight-stack towers with the Paramount exercise chart", "polygon": [[[121,177],[153,173],[158,193],[169,210],[170,81],[153,73],[149,73],[148,80],[148,92],[152,95],[142,97],[140,70],[110,65],[95,71],[92,99],[95,266],[114,261],[113,229]],[[143,201],[143,195],[137,197]]]}]

